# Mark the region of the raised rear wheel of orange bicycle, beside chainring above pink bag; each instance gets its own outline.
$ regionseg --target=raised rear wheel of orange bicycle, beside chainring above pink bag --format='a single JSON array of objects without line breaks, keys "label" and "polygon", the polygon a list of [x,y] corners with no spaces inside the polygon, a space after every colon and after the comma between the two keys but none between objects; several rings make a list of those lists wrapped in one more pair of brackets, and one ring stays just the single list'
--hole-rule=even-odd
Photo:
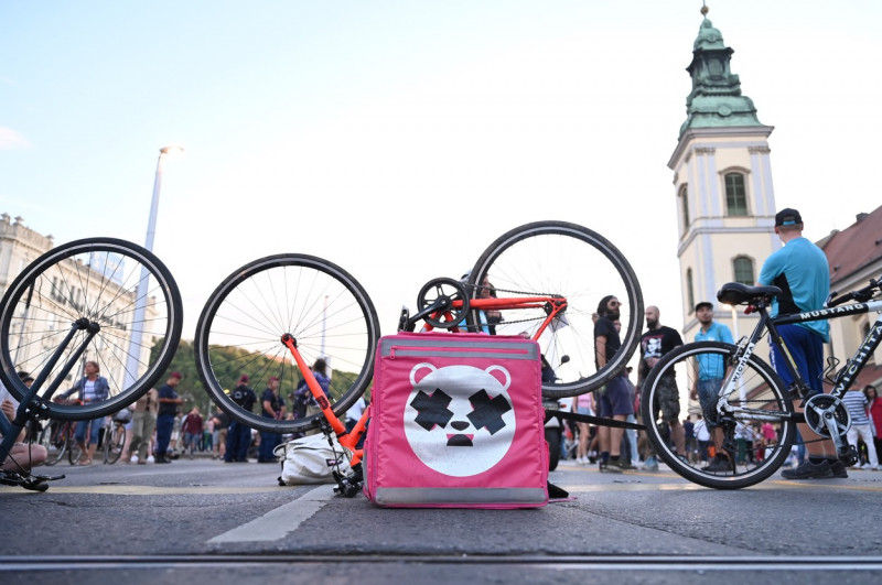
[{"label": "raised rear wheel of orange bicycle, beside chainring above pink bag", "polygon": [[[542,355],[557,380],[542,383],[542,394],[564,398],[606,383],[634,355],[643,323],[643,294],[625,257],[605,238],[576,224],[536,221],[494,241],[469,277],[466,290],[477,299],[487,282],[499,297],[560,295],[567,299],[562,318],[539,337]],[[601,299],[622,302],[622,346],[603,368],[594,360],[594,319]],[[497,335],[529,335],[547,316],[545,307],[504,311]],[[477,331],[477,311],[466,314],[469,331]]]}]

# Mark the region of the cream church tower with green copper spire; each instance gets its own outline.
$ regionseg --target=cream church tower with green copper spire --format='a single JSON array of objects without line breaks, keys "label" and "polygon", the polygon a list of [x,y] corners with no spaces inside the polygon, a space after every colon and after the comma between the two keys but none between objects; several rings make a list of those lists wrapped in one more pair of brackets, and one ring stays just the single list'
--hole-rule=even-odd
[{"label": "cream church tower with green copper spire", "polygon": [[735,339],[753,325],[717,302],[727,282],[754,284],[765,258],[781,247],[774,232],[768,136],[774,130],[756,117],[753,101],[741,94],[730,71],[732,48],[707,18],[707,7],[686,68],[692,91],[686,98],[686,121],[668,162],[674,171],[682,285],[684,340],[699,328],[695,305],[714,304],[714,319]]}]

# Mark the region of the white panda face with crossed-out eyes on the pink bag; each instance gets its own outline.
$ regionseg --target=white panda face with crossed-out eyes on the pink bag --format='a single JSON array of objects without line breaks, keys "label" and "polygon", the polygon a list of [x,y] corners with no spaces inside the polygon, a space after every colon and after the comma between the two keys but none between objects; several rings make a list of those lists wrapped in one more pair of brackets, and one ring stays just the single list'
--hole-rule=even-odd
[{"label": "white panda face with crossed-out eyes on the pink bag", "polygon": [[508,370],[419,364],[410,371],[410,383],[405,435],[422,463],[444,475],[467,477],[502,461],[515,436]]}]

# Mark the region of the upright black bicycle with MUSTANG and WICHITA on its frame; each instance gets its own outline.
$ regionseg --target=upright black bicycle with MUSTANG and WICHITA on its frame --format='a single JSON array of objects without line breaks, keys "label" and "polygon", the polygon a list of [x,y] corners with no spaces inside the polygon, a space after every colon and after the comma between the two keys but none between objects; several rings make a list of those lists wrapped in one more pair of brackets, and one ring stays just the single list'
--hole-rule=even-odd
[{"label": "upright black bicycle with MUSTANG and WICHITA on its frame", "polygon": [[[882,278],[871,280],[867,286],[845,294],[832,293],[825,308],[794,315],[771,317],[768,305],[781,294],[776,286],[746,286],[739,283],[723,285],[717,297],[730,305],[747,305],[747,312],[755,312],[760,318],[753,332],[743,337],[738,345],[717,342],[697,342],[686,344],[666,354],[652,369],[644,382],[641,408],[646,422],[647,435],[656,453],[671,469],[682,477],[702,486],[718,489],[734,489],[752,486],[774,474],[790,454],[796,437],[796,424],[805,422],[819,438],[832,440],[839,459],[846,465],[857,461],[854,445],[847,441],[851,416],[842,403],[842,396],[857,379],[858,373],[871,359],[880,340],[882,340]],[[848,303],[848,304],[846,304]],[[838,360],[828,359],[825,371],[826,382],[832,386],[829,393],[816,394],[808,399],[808,384],[802,378],[786,350],[776,327],[785,324],[807,323],[811,321],[842,318],[863,313],[876,312],[880,316],[870,327],[867,337],[858,350],[839,368]],[[782,349],[783,362],[794,379],[790,388],[756,354],[760,340],[768,334],[772,345]],[[717,380],[716,401],[711,404],[711,424],[718,427],[717,442],[728,454],[728,469],[710,470],[702,462],[691,462],[682,454],[677,454],[662,434],[660,422],[654,404],[658,401],[659,382],[675,376],[679,388],[692,388],[703,377],[704,380]],[[685,384],[684,384],[685,382]],[[794,401],[799,401],[804,413],[794,409]],[[699,407],[696,407],[699,409]],[[708,409],[704,409],[707,413]],[[701,414],[698,410],[696,414]],[[653,424],[658,422],[659,424]],[[749,462],[743,454],[744,426],[754,426],[756,434],[762,434],[761,425],[767,429],[764,457],[759,462]],[[810,437],[803,437],[808,442]]]}]

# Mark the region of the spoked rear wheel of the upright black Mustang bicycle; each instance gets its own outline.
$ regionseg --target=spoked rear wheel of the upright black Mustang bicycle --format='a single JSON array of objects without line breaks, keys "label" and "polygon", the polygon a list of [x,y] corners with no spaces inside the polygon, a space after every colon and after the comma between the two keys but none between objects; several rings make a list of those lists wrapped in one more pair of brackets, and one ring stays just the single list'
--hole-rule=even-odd
[{"label": "spoked rear wheel of the upright black Mustang bicycle", "polygon": [[[641,393],[641,413],[656,453],[686,479],[717,489],[743,488],[767,478],[789,455],[796,436],[793,403],[784,384],[775,371],[756,356],[751,356],[734,390],[724,397],[725,402],[738,410],[732,416],[719,418],[712,397],[717,396],[716,400],[719,400],[720,389],[727,386],[725,380],[733,375],[732,358],[736,349],[733,345],[717,342],[680,346],[665,355],[649,371]],[[692,388],[700,392],[698,384],[706,384],[711,400],[706,400],[704,409],[700,401],[690,401],[687,416],[695,420],[703,415],[711,425],[718,425],[719,430],[711,431],[707,441],[699,443],[703,443],[708,452],[721,445],[730,456],[723,461],[731,462],[734,458],[733,467],[724,465],[723,469],[711,470],[708,466],[712,466],[716,459],[710,453],[706,454],[703,448],[686,459],[675,452],[665,432],[667,425],[658,412],[659,400],[664,401],[670,392],[671,377],[679,392],[690,392]],[[678,419],[687,416],[680,413]],[[756,447],[763,442],[761,454]]]}]

